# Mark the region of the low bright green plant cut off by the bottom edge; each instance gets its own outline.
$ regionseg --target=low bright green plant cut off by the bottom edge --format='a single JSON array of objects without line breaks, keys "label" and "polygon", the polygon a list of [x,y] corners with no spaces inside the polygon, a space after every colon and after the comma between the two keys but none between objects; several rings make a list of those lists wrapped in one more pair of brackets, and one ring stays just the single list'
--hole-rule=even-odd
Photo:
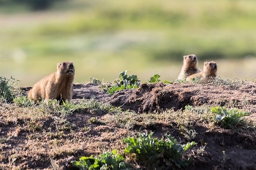
[{"label": "low bright green plant cut off by the bottom edge", "polygon": [[80,170],[119,170],[128,169],[126,163],[124,162],[124,157],[117,153],[117,150],[112,152],[103,152],[99,155],[99,158],[83,156],[79,158],[79,161],[73,163],[78,166]]}]

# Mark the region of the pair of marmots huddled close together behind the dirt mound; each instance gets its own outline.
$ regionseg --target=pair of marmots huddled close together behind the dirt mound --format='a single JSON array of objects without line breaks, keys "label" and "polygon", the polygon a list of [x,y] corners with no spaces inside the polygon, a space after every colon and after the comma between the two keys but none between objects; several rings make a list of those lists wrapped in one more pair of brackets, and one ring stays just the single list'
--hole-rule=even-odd
[{"label": "pair of marmots huddled close together behind the dirt mound", "polygon": [[203,71],[201,71],[198,68],[196,55],[184,55],[183,66],[178,74],[178,80],[186,79],[190,81],[195,77],[200,79],[200,83],[208,83],[208,80],[217,77],[217,63],[214,61],[206,62],[203,65]]}]

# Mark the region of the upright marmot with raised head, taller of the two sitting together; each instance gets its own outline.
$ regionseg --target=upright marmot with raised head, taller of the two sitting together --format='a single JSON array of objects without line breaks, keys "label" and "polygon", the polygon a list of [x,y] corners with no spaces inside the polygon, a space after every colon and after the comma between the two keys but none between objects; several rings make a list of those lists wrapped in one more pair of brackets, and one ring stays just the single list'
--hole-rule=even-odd
[{"label": "upright marmot with raised head, taller of the two sitting together", "polygon": [[183,66],[178,74],[178,80],[184,80],[186,77],[201,72],[198,68],[197,56],[194,54],[184,55]]}]

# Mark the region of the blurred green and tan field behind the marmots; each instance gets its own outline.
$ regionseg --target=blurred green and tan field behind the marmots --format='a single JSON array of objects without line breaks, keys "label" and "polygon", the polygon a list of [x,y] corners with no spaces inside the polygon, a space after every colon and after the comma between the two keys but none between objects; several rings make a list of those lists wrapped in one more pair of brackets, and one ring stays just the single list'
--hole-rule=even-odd
[{"label": "blurred green and tan field behind the marmots", "polygon": [[0,0],[0,73],[34,85],[73,61],[75,82],[178,77],[183,55],[217,61],[223,78],[252,80],[256,1]]}]

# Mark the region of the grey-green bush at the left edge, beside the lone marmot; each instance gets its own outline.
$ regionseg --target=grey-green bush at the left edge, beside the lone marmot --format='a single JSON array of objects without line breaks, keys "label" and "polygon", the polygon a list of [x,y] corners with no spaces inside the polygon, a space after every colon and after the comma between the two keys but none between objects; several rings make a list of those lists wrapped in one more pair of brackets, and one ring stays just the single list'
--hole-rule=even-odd
[{"label": "grey-green bush at the left edge, beside the lone marmot", "polygon": [[16,95],[20,93],[18,88],[19,80],[10,77],[0,77],[0,100],[4,102],[12,102]]}]

